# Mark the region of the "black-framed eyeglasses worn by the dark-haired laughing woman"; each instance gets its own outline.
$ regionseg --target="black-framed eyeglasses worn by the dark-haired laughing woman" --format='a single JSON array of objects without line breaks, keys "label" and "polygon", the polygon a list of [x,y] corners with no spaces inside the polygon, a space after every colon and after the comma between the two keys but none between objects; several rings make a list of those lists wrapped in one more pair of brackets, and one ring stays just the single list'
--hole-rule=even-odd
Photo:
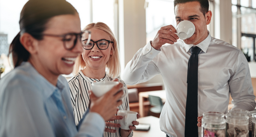
[{"label": "black-framed eyeglasses worn by the dark-haired laughing woman", "polygon": [[[43,36],[50,36],[50,37],[61,37],[63,41],[64,48],[66,50],[72,50],[75,48],[77,41],[81,42],[81,38],[83,34],[88,35],[88,39],[91,40],[91,32],[88,30],[82,31],[80,33],[67,33],[63,35],[54,35],[54,34],[34,34],[33,35],[43,35]],[[83,43],[82,46],[88,45],[88,43]]]}]

